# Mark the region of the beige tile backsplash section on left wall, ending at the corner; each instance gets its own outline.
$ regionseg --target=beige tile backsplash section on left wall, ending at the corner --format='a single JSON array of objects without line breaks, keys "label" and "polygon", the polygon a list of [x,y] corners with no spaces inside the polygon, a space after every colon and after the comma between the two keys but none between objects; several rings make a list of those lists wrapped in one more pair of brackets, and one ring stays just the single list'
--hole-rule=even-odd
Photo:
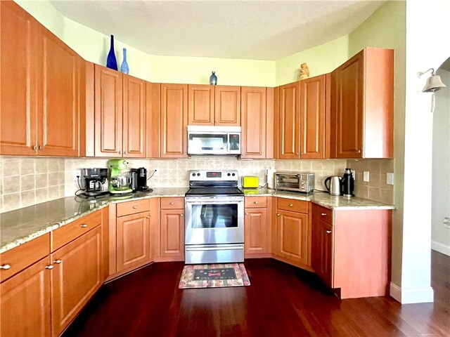
[{"label": "beige tile backsplash section on left wall, ending at the corner", "polygon": [[0,157],[0,212],[64,197],[64,161]]}]

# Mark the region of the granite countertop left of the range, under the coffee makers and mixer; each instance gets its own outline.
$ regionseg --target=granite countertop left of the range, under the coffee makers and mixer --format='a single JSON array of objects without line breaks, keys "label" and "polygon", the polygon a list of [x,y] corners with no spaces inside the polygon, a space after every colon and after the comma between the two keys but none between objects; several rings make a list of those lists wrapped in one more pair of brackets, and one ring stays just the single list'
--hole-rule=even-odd
[{"label": "granite countertop left of the range, under the coffee makers and mixer", "polygon": [[126,199],[111,196],[91,200],[65,197],[0,213],[0,253],[25,244],[98,209],[103,209],[108,204],[148,197],[184,197],[187,190],[187,187],[154,188],[153,192],[136,192]]}]

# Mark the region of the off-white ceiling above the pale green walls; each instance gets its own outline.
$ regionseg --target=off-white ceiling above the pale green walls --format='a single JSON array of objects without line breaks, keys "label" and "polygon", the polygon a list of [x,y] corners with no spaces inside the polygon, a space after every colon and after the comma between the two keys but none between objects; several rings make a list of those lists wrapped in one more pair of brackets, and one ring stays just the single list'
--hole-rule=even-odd
[{"label": "off-white ceiling above the pale green walls", "polygon": [[50,1],[150,55],[278,60],[352,32],[384,1]]}]

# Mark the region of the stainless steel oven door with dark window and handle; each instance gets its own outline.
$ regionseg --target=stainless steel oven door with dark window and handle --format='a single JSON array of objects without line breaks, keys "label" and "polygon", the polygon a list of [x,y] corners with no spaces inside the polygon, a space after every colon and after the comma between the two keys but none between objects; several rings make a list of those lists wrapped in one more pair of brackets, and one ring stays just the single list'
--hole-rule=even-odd
[{"label": "stainless steel oven door with dark window and handle", "polygon": [[186,197],[185,244],[242,244],[243,197]]}]

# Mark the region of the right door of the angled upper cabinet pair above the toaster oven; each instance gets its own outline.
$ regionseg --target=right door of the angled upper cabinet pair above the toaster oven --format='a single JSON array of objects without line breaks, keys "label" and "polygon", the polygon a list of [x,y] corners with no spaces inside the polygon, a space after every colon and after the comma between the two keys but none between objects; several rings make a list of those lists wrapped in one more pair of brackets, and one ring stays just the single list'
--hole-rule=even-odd
[{"label": "right door of the angled upper cabinet pair above the toaster oven", "polygon": [[300,157],[325,158],[326,75],[300,81]]}]

